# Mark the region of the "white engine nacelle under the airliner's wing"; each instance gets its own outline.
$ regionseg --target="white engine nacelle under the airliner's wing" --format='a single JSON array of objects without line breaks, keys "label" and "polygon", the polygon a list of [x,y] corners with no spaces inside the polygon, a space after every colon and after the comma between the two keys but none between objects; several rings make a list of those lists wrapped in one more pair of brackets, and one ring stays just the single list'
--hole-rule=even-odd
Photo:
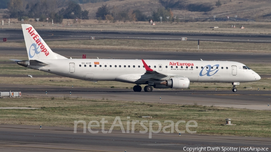
[{"label": "white engine nacelle under the airliner's wing", "polygon": [[167,86],[172,89],[187,89],[190,85],[190,80],[187,77],[177,77],[167,80]]}]

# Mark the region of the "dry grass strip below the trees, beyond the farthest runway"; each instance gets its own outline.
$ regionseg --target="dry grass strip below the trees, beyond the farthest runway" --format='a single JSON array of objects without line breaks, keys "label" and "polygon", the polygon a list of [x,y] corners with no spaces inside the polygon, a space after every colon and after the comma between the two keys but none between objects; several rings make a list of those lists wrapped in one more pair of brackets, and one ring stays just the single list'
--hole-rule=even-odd
[{"label": "dry grass strip below the trees, beyond the farthest runway", "polygon": [[[22,22],[17,19],[11,19],[8,26],[8,19],[4,26],[0,28],[16,28],[21,29]],[[47,22],[24,21],[25,24],[31,24],[35,29],[61,29],[61,30],[98,30],[98,31],[143,31],[143,32],[199,32],[199,33],[243,33],[243,34],[271,34],[271,26],[269,22],[179,22],[179,23],[157,23],[152,26],[148,22],[123,22],[117,21],[111,23],[106,20],[79,20],[76,22],[72,19],[64,19],[61,24]],[[67,25],[69,23],[69,25]],[[236,28],[230,28],[231,25],[236,25]],[[245,29],[240,29],[241,26]],[[218,29],[210,27],[218,26]]]}]

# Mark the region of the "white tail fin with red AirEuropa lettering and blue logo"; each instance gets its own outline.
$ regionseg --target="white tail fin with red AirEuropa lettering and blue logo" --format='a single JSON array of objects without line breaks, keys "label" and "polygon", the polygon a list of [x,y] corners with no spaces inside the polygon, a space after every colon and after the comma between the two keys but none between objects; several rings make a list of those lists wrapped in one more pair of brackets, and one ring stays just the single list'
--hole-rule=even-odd
[{"label": "white tail fin with red AirEuropa lettering and blue logo", "polygon": [[30,24],[22,24],[23,37],[29,60],[38,59],[67,59],[54,53],[42,40],[37,31]]}]

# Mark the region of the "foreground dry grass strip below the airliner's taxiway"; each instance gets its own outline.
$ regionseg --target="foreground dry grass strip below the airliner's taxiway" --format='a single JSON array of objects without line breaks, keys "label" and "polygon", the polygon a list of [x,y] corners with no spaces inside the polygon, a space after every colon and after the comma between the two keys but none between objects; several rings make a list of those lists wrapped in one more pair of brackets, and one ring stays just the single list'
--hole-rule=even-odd
[{"label": "foreground dry grass strip below the airliner's taxiway", "polygon": [[[129,116],[130,122],[132,120],[148,120],[148,122],[159,120],[162,123],[162,128],[168,125],[168,123],[164,123],[165,120],[172,120],[174,123],[179,120],[185,120],[185,122],[195,120],[198,127],[190,127],[189,129],[196,130],[197,134],[271,136],[270,112],[266,110],[24,95],[22,98],[5,98],[0,101],[1,107],[41,108],[0,109],[2,124],[73,127],[74,120],[85,120],[88,123],[91,120],[100,121],[105,118],[108,120],[108,123],[105,123],[105,129],[110,129],[115,117],[119,116],[126,129],[127,116]],[[152,116],[152,118],[138,116]],[[221,126],[225,123],[225,117],[230,117],[236,126]],[[149,128],[148,122],[144,124]],[[83,127],[83,125],[78,124],[78,127]],[[185,124],[179,124],[178,128],[182,131],[185,130]],[[153,129],[157,130],[158,125],[154,125]],[[114,130],[120,130],[120,127],[114,127]],[[136,123],[135,130],[143,131],[144,129],[139,123]]]}]

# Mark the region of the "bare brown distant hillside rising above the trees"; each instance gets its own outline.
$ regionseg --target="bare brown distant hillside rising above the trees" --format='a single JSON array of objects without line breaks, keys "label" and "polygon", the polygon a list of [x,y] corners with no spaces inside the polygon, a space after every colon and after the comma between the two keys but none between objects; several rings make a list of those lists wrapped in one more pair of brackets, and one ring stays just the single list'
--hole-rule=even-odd
[{"label": "bare brown distant hillside rising above the trees", "polygon": [[192,19],[197,17],[234,17],[250,18],[256,21],[271,21],[270,0],[221,0],[220,7],[215,6],[217,0],[110,0],[107,2],[80,4],[89,11],[89,18],[95,18],[95,12],[106,4],[112,10],[140,10],[147,16],[157,8],[171,8],[174,16]]}]

